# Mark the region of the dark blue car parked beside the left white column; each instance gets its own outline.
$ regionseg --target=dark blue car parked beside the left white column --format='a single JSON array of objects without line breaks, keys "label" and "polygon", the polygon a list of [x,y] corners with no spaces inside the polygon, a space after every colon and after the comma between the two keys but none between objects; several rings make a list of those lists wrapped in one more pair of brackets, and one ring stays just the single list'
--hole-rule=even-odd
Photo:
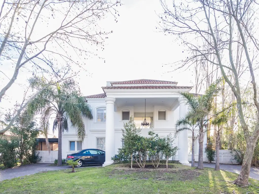
[{"label": "dark blue car parked beside the left white column", "polygon": [[[79,159],[79,160],[78,160]],[[103,164],[105,162],[105,151],[98,149],[85,149],[77,153],[68,154],[67,160],[78,160],[76,167],[92,164]]]}]

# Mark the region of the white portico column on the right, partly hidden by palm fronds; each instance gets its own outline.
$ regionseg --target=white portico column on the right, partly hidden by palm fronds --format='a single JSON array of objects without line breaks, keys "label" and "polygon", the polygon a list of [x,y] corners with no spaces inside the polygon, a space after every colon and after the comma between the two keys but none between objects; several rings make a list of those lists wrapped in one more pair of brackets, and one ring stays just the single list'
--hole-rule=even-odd
[{"label": "white portico column on the right, partly hidden by palm fronds", "polygon": [[[179,118],[185,117],[188,108],[183,97],[178,98],[179,101]],[[180,126],[181,127],[181,126]],[[178,160],[182,164],[189,164],[188,161],[188,130],[183,130],[178,135]]]}]

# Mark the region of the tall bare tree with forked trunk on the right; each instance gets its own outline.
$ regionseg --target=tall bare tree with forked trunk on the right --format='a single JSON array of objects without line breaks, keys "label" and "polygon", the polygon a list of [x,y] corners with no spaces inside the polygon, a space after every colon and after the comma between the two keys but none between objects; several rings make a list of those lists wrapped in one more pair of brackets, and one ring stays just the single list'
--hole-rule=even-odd
[{"label": "tall bare tree with forked trunk on the right", "polygon": [[[164,9],[164,13],[160,16],[164,32],[177,35],[184,40],[185,46],[191,50],[190,53],[197,51],[198,55],[202,56],[204,60],[217,65],[235,96],[239,122],[246,139],[246,152],[240,174],[235,183],[246,185],[248,184],[255,143],[259,137],[259,103],[254,76],[258,64],[253,63],[259,51],[256,36],[257,28],[255,26],[255,24],[258,24],[256,10],[259,3],[256,0],[195,0],[184,3],[173,1],[168,6],[165,1],[160,1]],[[198,38],[195,38],[197,34]],[[238,39],[239,36],[240,40]],[[195,42],[191,40],[193,38],[196,39]],[[208,48],[196,46],[197,39],[198,42],[206,42]],[[242,47],[244,55],[235,54],[235,45]],[[210,60],[208,56],[211,55],[217,58],[217,62]],[[239,74],[234,63],[235,56],[240,56],[236,60],[243,63],[244,71]],[[197,56],[188,56],[184,63],[192,62],[195,57]],[[234,81],[229,79],[228,72],[234,75]],[[249,134],[242,107],[241,76],[250,79],[253,88],[254,107],[257,109],[257,122],[251,134]]]}]

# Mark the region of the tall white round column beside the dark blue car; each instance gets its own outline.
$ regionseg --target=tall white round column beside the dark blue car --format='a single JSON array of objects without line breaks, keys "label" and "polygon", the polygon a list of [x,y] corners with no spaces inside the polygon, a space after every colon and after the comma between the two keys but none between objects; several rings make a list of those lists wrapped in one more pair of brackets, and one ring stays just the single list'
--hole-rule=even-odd
[{"label": "tall white round column beside the dark blue car", "polygon": [[113,163],[111,157],[114,156],[114,102],[115,98],[106,97],[106,130],[105,130],[105,162],[103,166]]}]

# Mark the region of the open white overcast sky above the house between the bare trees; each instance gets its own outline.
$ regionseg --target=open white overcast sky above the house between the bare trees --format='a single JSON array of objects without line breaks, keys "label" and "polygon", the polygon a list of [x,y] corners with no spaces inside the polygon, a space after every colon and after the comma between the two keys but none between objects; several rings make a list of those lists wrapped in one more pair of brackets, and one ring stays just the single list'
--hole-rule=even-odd
[{"label": "open white overcast sky above the house between the bare trees", "polygon": [[[175,66],[165,64],[173,63],[186,57],[184,48],[181,48],[175,37],[164,35],[156,29],[161,13],[158,0],[122,0],[123,5],[118,7],[120,16],[118,23],[108,16],[100,22],[106,31],[113,31],[106,40],[104,51],[100,56],[89,58],[85,63],[88,72],[80,72],[76,79],[83,95],[103,93],[102,86],[106,81],[123,81],[133,79],[158,79],[177,81],[178,86],[192,86],[194,77],[191,69],[172,71]],[[8,64],[8,63],[6,63]],[[11,77],[13,68],[1,65],[0,70]],[[23,71],[23,70],[21,70]],[[4,84],[3,74],[0,75]],[[18,101],[22,101],[26,79],[30,73],[21,72],[15,84],[6,93],[7,98],[1,103],[2,112]]]}]

